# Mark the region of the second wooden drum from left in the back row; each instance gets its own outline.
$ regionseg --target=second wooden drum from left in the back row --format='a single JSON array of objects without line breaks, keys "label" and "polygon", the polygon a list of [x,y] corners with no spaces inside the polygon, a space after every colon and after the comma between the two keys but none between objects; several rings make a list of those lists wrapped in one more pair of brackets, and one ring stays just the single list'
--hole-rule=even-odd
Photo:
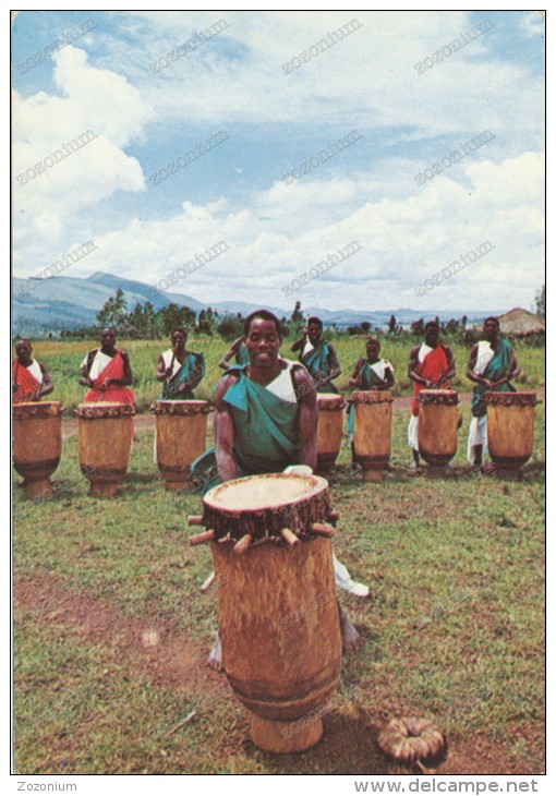
[{"label": "second wooden drum from left in the back row", "polygon": [[93,497],[112,497],[128,472],[133,433],[133,403],[80,403],[76,410],[80,467]]}]

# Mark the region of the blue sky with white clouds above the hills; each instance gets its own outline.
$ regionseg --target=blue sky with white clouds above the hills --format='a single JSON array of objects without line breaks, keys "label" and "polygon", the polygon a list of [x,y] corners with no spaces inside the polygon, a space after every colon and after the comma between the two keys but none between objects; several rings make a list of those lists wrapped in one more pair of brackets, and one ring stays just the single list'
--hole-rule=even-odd
[{"label": "blue sky with white clouds above the hills", "polygon": [[285,311],[531,309],[544,284],[544,44],[536,11],[21,11],[13,275],[93,241],[63,276],[173,274],[172,292],[206,304]]}]

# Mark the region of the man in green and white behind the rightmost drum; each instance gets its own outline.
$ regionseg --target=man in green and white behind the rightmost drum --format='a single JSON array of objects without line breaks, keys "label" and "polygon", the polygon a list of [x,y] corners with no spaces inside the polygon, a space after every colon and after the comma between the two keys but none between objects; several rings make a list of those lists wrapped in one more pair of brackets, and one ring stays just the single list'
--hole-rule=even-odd
[{"label": "man in green and white behind the rightmost drum", "polygon": [[483,446],[486,447],[486,402],[485,393],[515,393],[510,378],[521,373],[511,343],[498,335],[500,322],[487,317],[483,324],[485,340],[480,340],[471,349],[467,377],[475,383],[471,399],[471,425],[468,438],[468,460],[481,467]]}]

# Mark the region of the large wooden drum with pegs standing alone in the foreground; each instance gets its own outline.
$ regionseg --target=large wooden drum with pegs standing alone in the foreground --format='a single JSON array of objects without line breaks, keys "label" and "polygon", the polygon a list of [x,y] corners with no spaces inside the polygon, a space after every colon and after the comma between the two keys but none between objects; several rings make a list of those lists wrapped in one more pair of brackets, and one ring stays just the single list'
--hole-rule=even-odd
[{"label": "large wooden drum with pegs standing alone in the foreground", "polygon": [[[315,475],[253,475],[216,486],[203,503],[203,524],[220,540],[231,536],[210,546],[226,583],[218,593],[222,662],[254,714],[251,737],[269,751],[307,749],[322,737],[319,708],[341,668],[331,542],[314,535],[330,517],[328,484]],[[281,540],[285,527],[291,535]],[[254,541],[238,556],[243,539]]]}]

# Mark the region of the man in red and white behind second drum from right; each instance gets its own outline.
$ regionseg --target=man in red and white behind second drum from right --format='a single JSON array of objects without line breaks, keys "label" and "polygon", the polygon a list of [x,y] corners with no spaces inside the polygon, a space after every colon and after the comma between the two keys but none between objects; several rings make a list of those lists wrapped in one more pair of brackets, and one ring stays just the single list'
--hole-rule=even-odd
[{"label": "man in red and white behind second drum from right", "polygon": [[422,389],[450,389],[456,363],[449,346],[440,342],[440,327],[436,321],[425,324],[425,340],[411,349],[408,376],[413,382],[413,401],[408,426],[408,444],[413,450],[413,468],[420,467],[419,460],[419,403]]}]

